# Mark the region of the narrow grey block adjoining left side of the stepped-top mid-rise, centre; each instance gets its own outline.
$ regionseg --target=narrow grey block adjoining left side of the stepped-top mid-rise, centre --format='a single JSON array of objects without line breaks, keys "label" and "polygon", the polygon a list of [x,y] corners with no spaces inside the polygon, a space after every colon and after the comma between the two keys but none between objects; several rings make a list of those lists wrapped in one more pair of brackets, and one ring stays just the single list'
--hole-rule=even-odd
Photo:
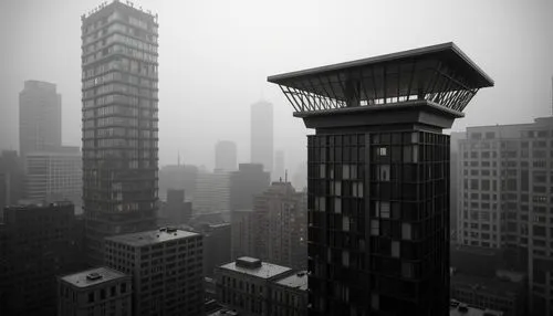
[{"label": "narrow grey block adjoining left side of the stepped-top mid-rise, centre", "polygon": [[230,213],[230,257],[253,255],[252,210],[239,209]]}]

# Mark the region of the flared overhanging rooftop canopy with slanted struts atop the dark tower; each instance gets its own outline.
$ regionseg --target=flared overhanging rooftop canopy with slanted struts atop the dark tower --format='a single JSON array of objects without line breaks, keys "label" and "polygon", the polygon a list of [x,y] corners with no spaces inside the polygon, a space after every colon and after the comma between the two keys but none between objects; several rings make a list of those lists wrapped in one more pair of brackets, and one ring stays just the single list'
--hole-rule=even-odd
[{"label": "flared overhanging rooftop canopy with slanted struts atop the dark tower", "polygon": [[[427,101],[458,112],[493,81],[453,43],[269,76],[298,113]],[[462,115],[462,114],[461,114]]]}]

